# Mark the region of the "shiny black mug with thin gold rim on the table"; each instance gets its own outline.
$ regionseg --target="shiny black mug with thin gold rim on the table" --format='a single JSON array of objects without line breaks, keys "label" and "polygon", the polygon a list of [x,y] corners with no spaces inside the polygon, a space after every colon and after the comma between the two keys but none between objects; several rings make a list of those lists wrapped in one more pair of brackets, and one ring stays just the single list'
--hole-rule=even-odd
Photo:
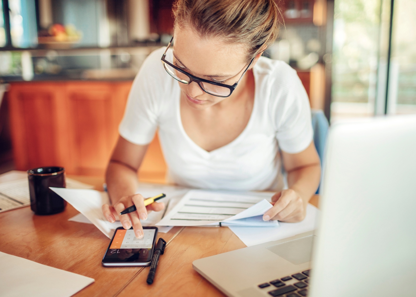
[{"label": "shiny black mug with thin gold rim on the table", "polygon": [[65,168],[41,167],[27,171],[30,208],[37,215],[53,215],[65,209],[67,201],[49,187],[65,188]]}]

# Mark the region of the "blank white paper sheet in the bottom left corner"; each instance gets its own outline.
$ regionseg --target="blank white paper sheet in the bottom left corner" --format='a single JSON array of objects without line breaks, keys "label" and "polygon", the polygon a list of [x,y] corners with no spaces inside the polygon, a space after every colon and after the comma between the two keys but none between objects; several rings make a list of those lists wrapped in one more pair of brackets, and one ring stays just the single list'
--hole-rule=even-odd
[{"label": "blank white paper sheet in the bottom left corner", "polygon": [[69,297],[94,282],[93,278],[0,252],[2,297]]}]

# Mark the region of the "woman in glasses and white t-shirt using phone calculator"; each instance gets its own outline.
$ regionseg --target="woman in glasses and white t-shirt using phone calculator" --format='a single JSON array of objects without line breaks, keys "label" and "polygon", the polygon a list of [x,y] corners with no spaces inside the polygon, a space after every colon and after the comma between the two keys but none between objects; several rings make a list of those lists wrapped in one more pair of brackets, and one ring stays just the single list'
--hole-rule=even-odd
[{"label": "woman in glasses and white t-shirt using phone calculator", "polygon": [[[273,0],[177,0],[174,45],[152,52],[131,87],[106,172],[110,222],[141,238],[139,218],[164,207],[134,195],[156,129],[175,183],[276,191],[264,220],[305,218],[320,179],[309,101],[295,70],[261,57],[279,13]],[[136,212],[118,215],[133,204]]]}]

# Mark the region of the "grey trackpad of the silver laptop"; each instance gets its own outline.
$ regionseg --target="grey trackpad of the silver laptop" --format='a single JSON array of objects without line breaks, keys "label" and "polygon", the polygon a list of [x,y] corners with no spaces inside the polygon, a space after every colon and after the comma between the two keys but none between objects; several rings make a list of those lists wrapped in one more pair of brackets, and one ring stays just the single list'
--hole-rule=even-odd
[{"label": "grey trackpad of the silver laptop", "polygon": [[300,265],[311,260],[314,237],[309,235],[266,248],[292,264]]}]

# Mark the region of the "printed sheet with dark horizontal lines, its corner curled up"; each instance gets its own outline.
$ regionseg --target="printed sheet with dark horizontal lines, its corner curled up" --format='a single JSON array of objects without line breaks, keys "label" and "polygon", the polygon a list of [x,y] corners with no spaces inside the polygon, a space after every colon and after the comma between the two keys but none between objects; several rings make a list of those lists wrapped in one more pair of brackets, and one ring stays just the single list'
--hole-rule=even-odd
[{"label": "printed sheet with dark horizontal lines, its corner curled up", "polygon": [[[265,196],[266,195],[266,196]],[[157,226],[201,226],[264,214],[271,193],[225,193],[191,190]]]}]

